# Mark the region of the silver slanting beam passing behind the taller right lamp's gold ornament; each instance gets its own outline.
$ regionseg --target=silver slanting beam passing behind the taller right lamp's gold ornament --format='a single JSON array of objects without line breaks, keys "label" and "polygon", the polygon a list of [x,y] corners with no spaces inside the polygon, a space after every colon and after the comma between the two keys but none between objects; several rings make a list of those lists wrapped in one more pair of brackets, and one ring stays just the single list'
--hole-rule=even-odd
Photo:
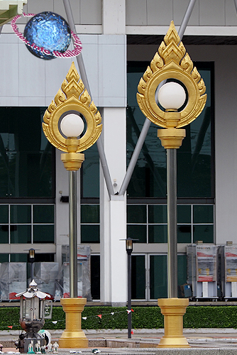
[{"label": "silver slanting beam passing behind the taller right lamp's gold ornament", "polygon": [[[187,10],[184,13],[184,18],[182,19],[182,23],[180,25],[180,29],[178,31],[179,36],[180,36],[180,40],[182,40],[182,36],[184,35],[184,31],[187,27],[187,23],[189,22],[189,18],[191,16],[192,10],[194,8],[194,4],[195,4],[196,0],[189,0],[189,5],[187,6]],[[237,1],[237,0],[235,0]],[[123,179],[123,183],[121,185],[121,189],[118,192],[118,195],[124,195],[127,188],[128,188],[128,184],[131,180],[131,176],[133,174],[133,170],[135,168],[136,162],[138,160],[138,156],[140,154],[141,149],[143,148],[143,143],[145,141],[145,137],[148,133],[148,129],[150,127],[150,120],[149,119],[145,119],[144,125],[143,125],[143,129],[140,132],[140,136],[138,138],[138,142],[136,143],[136,147],[133,151],[133,155],[131,157],[130,163],[128,165],[128,170],[126,172],[125,178]]]}]

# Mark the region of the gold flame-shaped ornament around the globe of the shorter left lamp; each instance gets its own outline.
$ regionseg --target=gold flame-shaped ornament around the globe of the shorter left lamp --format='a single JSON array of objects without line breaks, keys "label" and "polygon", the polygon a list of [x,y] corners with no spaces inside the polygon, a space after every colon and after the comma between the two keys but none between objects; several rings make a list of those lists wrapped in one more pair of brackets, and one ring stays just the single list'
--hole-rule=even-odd
[{"label": "gold flame-shaped ornament around the globe of the shorter left lamp", "polygon": [[[87,122],[87,130],[81,138],[65,138],[60,132],[60,121],[70,112],[82,114]],[[62,82],[61,88],[55,95],[54,101],[51,102],[45,111],[42,127],[48,141],[60,151],[67,153],[62,154],[62,161],[66,159],[68,162],[70,162],[71,158],[72,160],[78,160],[79,156],[81,156],[82,160],[82,155],[84,156],[84,154],[78,153],[91,147],[101,134],[101,114],[89,96],[87,89],[84,88],[74,62],[72,62],[66,79]],[[69,165],[65,166],[67,170],[75,170],[73,166],[70,167]]]}]

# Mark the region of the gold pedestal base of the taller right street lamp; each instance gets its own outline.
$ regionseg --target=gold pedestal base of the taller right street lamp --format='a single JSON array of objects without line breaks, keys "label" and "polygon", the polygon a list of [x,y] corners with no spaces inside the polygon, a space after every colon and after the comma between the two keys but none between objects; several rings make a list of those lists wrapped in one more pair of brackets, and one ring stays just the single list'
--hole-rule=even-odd
[{"label": "gold pedestal base of the taller right street lamp", "polygon": [[189,305],[188,298],[160,298],[158,306],[164,315],[165,335],[160,339],[159,348],[189,348],[183,336],[183,316]]}]

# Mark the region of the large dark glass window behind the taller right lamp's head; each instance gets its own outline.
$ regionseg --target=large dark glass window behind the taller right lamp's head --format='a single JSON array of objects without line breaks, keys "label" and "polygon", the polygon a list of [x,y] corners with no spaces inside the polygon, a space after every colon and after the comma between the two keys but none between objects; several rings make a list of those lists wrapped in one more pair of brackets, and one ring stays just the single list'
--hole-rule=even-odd
[{"label": "large dark glass window behind the taller right lamp's head", "polygon": [[[131,160],[145,116],[136,102],[138,82],[150,62],[128,62],[127,164]],[[212,155],[213,89],[212,63],[195,63],[206,84],[207,101],[204,111],[185,126],[186,137],[177,149],[177,197],[214,197]],[[166,152],[157,138],[157,126],[150,124],[143,148],[128,185],[129,197],[166,197]]]}]

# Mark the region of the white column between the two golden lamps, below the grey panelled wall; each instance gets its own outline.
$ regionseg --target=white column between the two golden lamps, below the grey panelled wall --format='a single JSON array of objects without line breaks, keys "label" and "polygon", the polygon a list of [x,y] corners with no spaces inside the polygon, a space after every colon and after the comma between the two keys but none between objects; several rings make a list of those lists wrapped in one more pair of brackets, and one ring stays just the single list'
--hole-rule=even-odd
[{"label": "white column between the two golden lamps, below the grey panelled wall", "polygon": [[[104,151],[114,193],[126,172],[126,108],[103,110]],[[101,302],[125,305],[127,300],[126,197],[109,197],[101,171]]]}]

